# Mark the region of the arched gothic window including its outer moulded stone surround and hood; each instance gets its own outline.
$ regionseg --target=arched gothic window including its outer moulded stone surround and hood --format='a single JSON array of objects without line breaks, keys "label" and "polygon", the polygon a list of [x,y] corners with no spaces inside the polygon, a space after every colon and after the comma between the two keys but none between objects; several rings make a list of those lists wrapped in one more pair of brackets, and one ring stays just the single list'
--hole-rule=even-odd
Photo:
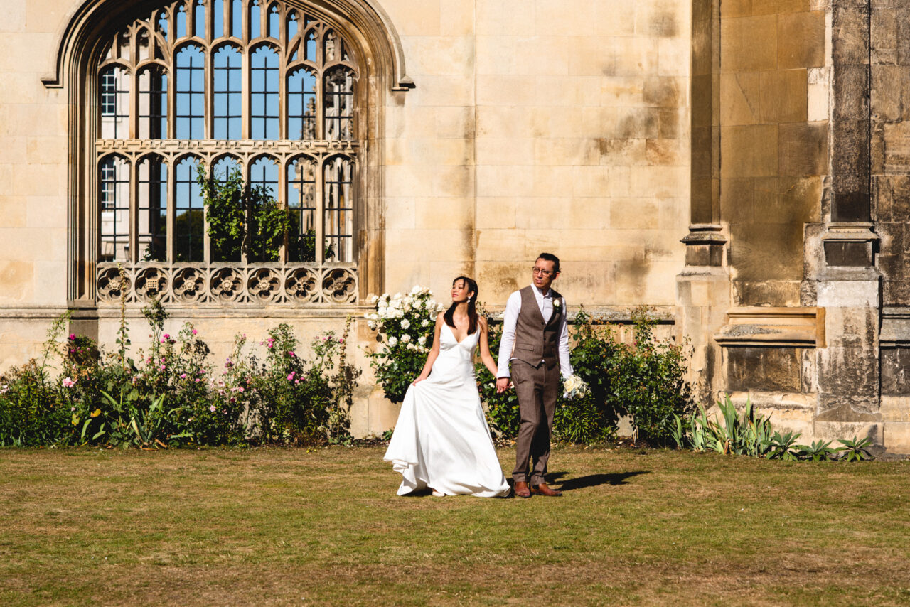
[{"label": "arched gothic window including its outer moulded stone surround and hood", "polygon": [[[357,224],[369,216],[355,208],[363,204],[359,192],[373,200],[369,192],[377,191],[365,187],[376,175],[369,168],[376,147],[363,146],[359,137],[367,133],[358,125],[368,124],[367,102],[381,100],[379,88],[356,84],[366,84],[365,76],[383,87],[407,84],[400,77],[397,36],[372,3],[347,0],[351,12],[345,15],[333,13],[333,3],[308,7],[308,0],[293,6],[284,0],[171,0],[140,3],[148,6],[143,15],[136,3],[79,3],[61,39],[57,76],[44,80],[45,86],[62,86],[66,77],[67,86],[89,96],[73,117],[73,124],[86,128],[70,133],[80,151],[70,157],[78,184],[70,192],[69,215],[78,218],[74,229],[99,222],[100,228],[80,233],[96,235],[96,247],[71,253],[72,268],[96,268],[94,277],[70,275],[72,298],[113,297],[104,285],[119,284],[121,264],[134,289],[130,304],[154,295],[145,279],[152,274],[161,278],[164,300],[251,303],[251,286],[228,292],[224,285],[237,277],[243,284],[245,264],[255,261],[265,264],[263,272],[287,277],[275,283],[277,292],[258,293],[257,301],[356,300],[359,247],[370,237],[357,236],[359,230],[369,233]],[[250,24],[257,12],[258,35]],[[346,29],[352,24],[357,31]],[[295,52],[299,58],[291,62]],[[238,55],[237,62],[217,61]],[[248,185],[267,187],[275,198],[269,204],[297,209],[296,231],[268,256],[217,257],[198,169],[228,166],[238,167]],[[353,290],[340,298],[337,289],[320,290],[341,278]],[[310,279],[315,290],[294,287]]]}]

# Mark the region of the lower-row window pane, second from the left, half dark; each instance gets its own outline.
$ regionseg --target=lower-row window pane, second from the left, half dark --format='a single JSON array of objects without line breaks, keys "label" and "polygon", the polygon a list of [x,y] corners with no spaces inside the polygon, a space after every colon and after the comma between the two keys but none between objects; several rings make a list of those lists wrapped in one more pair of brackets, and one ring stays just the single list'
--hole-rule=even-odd
[{"label": "lower-row window pane, second from the left, half dark", "polygon": [[139,199],[136,205],[139,261],[167,258],[167,165],[159,157],[139,163]]}]

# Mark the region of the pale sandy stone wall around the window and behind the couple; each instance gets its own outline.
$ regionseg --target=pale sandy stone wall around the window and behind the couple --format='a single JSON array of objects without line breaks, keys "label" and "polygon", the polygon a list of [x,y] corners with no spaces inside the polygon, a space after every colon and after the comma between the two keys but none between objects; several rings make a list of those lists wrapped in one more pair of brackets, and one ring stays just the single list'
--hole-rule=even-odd
[{"label": "pale sandy stone wall around the window and behind the couple", "polygon": [[[76,97],[41,78],[84,4],[8,0],[0,24],[3,368],[34,355],[67,306],[69,135],[80,125],[67,124]],[[382,91],[381,123],[370,126],[368,145],[381,150],[370,182],[381,209],[362,215],[381,231],[370,240],[370,284],[426,285],[444,300],[451,278],[469,274],[495,309],[548,250],[563,260],[557,288],[572,306],[620,318],[642,304],[672,311],[690,194],[688,3],[372,4],[399,36],[414,87]],[[135,308],[127,316],[138,348],[146,331]],[[362,311],[182,307],[172,322],[193,320],[223,358],[236,333],[259,339],[288,320],[307,340]],[[112,346],[116,324],[116,309],[89,307],[72,327]],[[369,347],[365,328],[358,336]],[[360,395],[360,435],[393,422],[380,396]]]}]

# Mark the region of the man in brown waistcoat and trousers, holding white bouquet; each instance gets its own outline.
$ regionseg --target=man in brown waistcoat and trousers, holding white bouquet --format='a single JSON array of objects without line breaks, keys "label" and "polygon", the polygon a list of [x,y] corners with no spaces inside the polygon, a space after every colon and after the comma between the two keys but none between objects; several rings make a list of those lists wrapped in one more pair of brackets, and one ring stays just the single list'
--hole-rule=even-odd
[{"label": "man in brown waistcoat and trousers, holding white bouquet", "polygon": [[[515,386],[521,424],[515,444],[515,495],[532,493],[558,497],[561,491],[547,486],[547,460],[559,374],[569,377],[569,325],[566,302],[551,288],[560,275],[560,258],[541,253],[534,261],[531,285],[515,291],[506,303],[500,343],[496,392]],[[529,486],[528,460],[532,470]]]}]

